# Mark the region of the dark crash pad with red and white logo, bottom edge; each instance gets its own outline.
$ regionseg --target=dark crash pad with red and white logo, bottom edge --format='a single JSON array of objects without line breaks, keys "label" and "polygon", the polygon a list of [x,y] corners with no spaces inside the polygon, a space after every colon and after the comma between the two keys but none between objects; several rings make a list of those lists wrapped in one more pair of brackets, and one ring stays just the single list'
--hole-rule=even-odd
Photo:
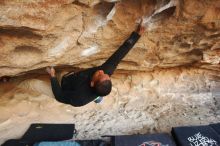
[{"label": "dark crash pad with red and white logo, bottom edge", "polygon": [[112,136],[112,146],[175,146],[168,134]]}]

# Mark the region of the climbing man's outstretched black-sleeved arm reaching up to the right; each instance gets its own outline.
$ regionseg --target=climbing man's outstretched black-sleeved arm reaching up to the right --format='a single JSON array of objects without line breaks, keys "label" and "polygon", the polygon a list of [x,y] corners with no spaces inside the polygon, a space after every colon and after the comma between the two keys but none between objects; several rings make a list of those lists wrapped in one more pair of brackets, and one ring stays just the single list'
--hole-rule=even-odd
[{"label": "climbing man's outstretched black-sleeved arm reaching up to the right", "polygon": [[141,21],[137,30],[132,32],[130,37],[118,48],[118,50],[113,53],[112,56],[109,57],[109,59],[105,63],[101,65],[101,69],[103,69],[105,73],[112,75],[120,61],[131,50],[131,48],[135,45],[135,43],[138,41],[144,31],[145,27],[142,26]]}]

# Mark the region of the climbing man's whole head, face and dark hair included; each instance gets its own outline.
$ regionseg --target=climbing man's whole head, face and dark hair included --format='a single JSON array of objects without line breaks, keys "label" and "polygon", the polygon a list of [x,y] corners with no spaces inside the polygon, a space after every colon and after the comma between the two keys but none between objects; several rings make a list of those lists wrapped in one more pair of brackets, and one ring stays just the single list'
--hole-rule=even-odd
[{"label": "climbing man's whole head, face and dark hair included", "polygon": [[112,90],[112,82],[109,75],[105,74],[103,70],[97,70],[92,76],[91,87],[94,87],[100,96],[108,95]]}]

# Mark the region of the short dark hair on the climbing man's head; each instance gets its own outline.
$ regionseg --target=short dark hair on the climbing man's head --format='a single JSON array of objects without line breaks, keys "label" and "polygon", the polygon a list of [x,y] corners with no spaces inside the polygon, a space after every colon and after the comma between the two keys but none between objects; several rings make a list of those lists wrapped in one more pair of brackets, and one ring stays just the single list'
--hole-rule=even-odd
[{"label": "short dark hair on the climbing man's head", "polygon": [[95,84],[96,93],[99,96],[106,96],[112,90],[112,82],[111,80],[101,81]]}]

